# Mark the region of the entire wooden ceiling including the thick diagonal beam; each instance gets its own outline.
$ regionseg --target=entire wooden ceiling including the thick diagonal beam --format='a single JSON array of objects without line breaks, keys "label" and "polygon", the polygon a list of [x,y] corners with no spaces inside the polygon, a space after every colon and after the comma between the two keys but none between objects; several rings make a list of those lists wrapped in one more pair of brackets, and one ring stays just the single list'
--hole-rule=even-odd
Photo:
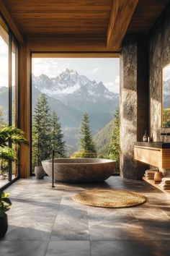
[{"label": "entire wooden ceiling including the thick diagonal beam", "polygon": [[168,3],[169,0],[0,0],[0,10],[6,9],[22,38],[30,44],[37,42],[36,51],[42,41],[48,45],[47,51],[50,45],[55,51],[56,43],[65,51],[65,42],[72,43],[74,51],[82,43],[84,51],[91,45],[91,51],[118,52],[125,34],[148,33]]}]

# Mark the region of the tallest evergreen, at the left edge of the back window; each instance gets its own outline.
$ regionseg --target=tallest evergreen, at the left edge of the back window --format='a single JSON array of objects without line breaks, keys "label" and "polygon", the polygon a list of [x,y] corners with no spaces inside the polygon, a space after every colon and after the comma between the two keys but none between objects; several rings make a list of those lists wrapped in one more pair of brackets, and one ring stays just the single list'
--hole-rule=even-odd
[{"label": "tallest evergreen, at the left edge of the back window", "polygon": [[40,166],[41,161],[51,155],[50,108],[45,94],[37,100],[32,120],[32,167]]}]

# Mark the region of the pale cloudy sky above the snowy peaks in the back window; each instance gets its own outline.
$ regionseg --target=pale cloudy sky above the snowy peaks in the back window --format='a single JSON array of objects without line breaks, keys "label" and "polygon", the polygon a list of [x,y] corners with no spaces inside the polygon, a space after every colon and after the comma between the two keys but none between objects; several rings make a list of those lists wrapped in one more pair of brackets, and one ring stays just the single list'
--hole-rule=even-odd
[{"label": "pale cloudy sky above the snowy peaks in the back window", "polygon": [[120,60],[119,58],[34,58],[32,73],[35,77],[47,74],[57,77],[65,69],[73,69],[84,74],[89,80],[102,81],[106,88],[120,93]]}]

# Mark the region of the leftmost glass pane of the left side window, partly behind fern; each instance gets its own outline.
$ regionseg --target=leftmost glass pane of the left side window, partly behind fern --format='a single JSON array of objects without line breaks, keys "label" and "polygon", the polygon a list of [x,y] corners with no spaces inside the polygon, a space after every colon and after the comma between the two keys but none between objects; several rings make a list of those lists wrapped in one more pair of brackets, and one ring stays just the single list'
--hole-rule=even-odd
[{"label": "leftmost glass pane of the left side window, partly behind fern", "polygon": [[[9,124],[9,33],[0,17],[0,126]],[[9,178],[8,161],[0,160],[0,187]]]}]

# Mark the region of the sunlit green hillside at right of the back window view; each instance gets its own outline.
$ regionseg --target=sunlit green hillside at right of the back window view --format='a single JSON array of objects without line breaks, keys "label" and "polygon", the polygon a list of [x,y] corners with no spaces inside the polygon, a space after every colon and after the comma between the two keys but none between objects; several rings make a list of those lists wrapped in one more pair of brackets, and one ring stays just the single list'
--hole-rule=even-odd
[{"label": "sunlit green hillside at right of the back window view", "polygon": [[96,135],[94,135],[94,143],[97,148],[97,154],[101,155],[107,155],[107,150],[109,147],[109,142],[112,137],[112,130],[113,130],[114,124],[113,119],[112,121],[109,121],[109,123],[102,128],[99,132],[97,132]]}]

